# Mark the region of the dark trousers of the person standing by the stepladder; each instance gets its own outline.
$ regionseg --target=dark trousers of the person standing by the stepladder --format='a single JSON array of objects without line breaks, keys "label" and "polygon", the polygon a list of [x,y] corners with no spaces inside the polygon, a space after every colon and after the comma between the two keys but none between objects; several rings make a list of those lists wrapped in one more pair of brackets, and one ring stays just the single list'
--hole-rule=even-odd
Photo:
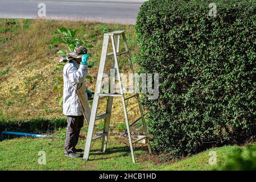
[{"label": "dark trousers of the person standing by the stepladder", "polygon": [[74,150],[79,140],[80,130],[84,125],[84,115],[67,115],[67,122],[65,154],[75,152]]}]

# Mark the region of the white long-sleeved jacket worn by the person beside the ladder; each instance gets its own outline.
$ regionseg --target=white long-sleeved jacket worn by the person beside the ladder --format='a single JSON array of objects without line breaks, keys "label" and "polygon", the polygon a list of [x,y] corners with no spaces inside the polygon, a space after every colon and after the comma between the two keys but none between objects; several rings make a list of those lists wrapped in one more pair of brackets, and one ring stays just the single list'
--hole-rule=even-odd
[{"label": "white long-sleeved jacket worn by the person beside the ladder", "polygon": [[[82,110],[75,88],[79,84],[85,85],[87,66],[72,60],[63,68],[63,114],[82,115]],[[74,88],[75,87],[75,88]]]}]

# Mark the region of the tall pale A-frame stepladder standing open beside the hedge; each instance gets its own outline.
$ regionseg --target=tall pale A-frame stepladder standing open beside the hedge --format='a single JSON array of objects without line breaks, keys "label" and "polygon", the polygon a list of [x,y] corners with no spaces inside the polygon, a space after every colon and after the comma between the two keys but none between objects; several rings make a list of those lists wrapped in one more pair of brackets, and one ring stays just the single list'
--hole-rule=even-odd
[{"label": "tall pale A-frame stepladder standing open beside the hedge", "polygon": [[[124,52],[119,52],[120,38],[122,38],[122,40],[123,40],[123,46],[125,47]],[[113,49],[113,52],[110,52],[110,53],[108,53],[109,41],[111,42],[112,49]],[[107,56],[112,56],[112,55],[114,56],[114,63],[112,64],[113,69],[110,73],[104,73],[106,58],[107,58]],[[110,124],[110,116],[111,116],[111,112],[112,112],[113,97],[121,97],[121,99],[122,99],[122,105],[123,105],[123,110],[124,110],[124,114],[125,114],[126,130],[127,130],[127,135],[129,138],[131,158],[133,159],[133,163],[135,163],[134,148],[133,148],[134,143],[137,143],[141,140],[145,140],[147,143],[148,152],[151,154],[151,146],[150,146],[150,141],[148,138],[146,122],[144,120],[143,109],[141,106],[141,102],[139,100],[139,94],[135,93],[132,96],[125,98],[125,95],[123,93],[121,75],[120,75],[119,67],[118,67],[118,58],[121,55],[127,56],[128,60],[129,60],[131,72],[134,75],[133,64],[131,62],[131,56],[129,53],[129,49],[127,47],[125,31],[114,31],[114,32],[110,32],[108,34],[104,34],[104,42],[103,42],[102,52],[101,52],[100,67],[98,69],[97,83],[96,83],[96,89],[94,92],[92,111],[90,114],[90,122],[89,122],[86,143],[85,143],[83,160],[89,159],[89,152],[90,152],[92,140],[102,138],[101,151],[102,152],[106,151],[106,147],[107,147],[107,143],[108,143],[109,124]],[[117,74],[117,78],[118,78],[119,93],[114,92],[115,73]],[[110,85],[109,93],[102,93],[102,91],[101,91],[102,79],[105,77],[110,78],[109,79],[109,85]],[[135,90],[135,81],[133,81],[133,86],[134,86],[134,90]],[[133,141],[133,139],[131,138],[129,119],[128,119],[127,110],[126,110],[126,101],[133,97],[135,97],[138,100],[139,110],[141,113],[141,119],[142,119],[144,133],[145,133],[145,135],[143,137],[138,138],[135,141]],[[106,113],[96,115],[98,102],[99,102],[100,98],[107,98]],[[104,131],[102,133],[96,135],[95,137],[93,137],[95,122],[98,119],[104,119],[104,121],[105,121]]]}]

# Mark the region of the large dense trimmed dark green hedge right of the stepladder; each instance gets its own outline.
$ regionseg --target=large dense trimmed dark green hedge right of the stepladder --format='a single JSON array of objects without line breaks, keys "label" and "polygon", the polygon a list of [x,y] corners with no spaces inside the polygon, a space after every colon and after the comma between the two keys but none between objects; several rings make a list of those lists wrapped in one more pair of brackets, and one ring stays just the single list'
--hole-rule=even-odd
[{"label": "large dense trimmed dark green hedge right of the stepladder", "polygon": [[185,156],[254,139],[255,1],[151,0],[139,10],[140,72],[159,73],[144,100],[153,147]]}]

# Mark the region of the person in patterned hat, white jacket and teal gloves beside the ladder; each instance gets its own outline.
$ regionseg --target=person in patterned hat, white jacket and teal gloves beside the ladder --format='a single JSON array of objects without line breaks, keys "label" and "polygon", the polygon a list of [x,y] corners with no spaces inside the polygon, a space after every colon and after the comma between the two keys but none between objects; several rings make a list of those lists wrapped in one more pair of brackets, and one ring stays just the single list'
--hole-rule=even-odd
[{"label": "person in patterned hat, white jacket and teal gloves beside the ladder", "polygon": [[84,117],[89,122],[90,109],[88,104],[88,95],[92,92],[86,89],[85,77],[87,75],[87,61],[90,55],[83,46],[77,46],[73,52],[68,54],[63,69],[63,113],[67,117],[67,133],[65,139],[65,155],[71,158],[80,158],[76,154],[82,152],[77,149],[76,144],[79,140],[79,134],[84,125]]}]

